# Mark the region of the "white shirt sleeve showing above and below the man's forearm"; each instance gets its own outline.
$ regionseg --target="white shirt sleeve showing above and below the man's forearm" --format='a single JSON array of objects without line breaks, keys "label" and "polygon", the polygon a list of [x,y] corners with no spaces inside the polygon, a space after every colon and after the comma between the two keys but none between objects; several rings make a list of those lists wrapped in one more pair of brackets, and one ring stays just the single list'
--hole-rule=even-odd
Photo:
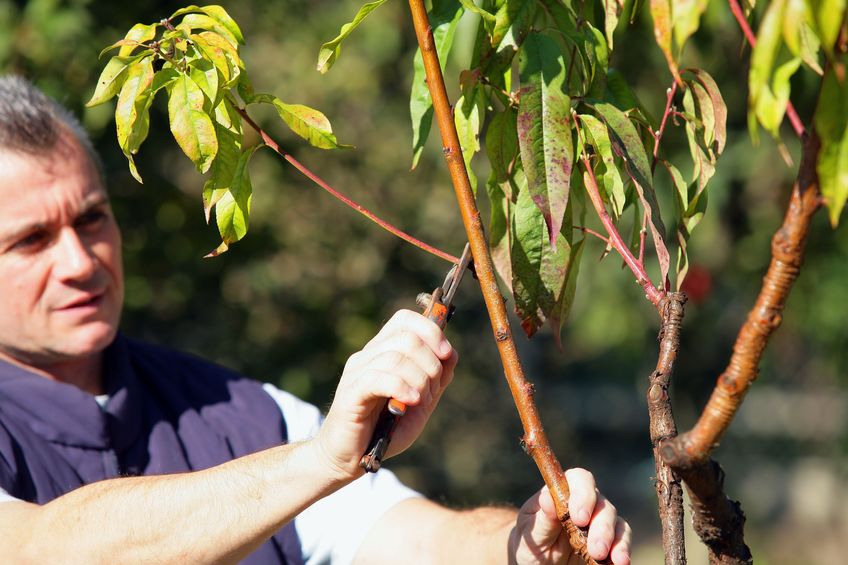
[{"label": "white shirt sleeve showing above and below the man's forearm", "polygon": [[[318,408],[273,385],[264,388],[283,412],[290,442],[309,439],[318,432],[323,421]],[[294,520],[306,564],[351,563],[380,516],[398,502],[418,497],[421,494],[401,483],[394,473],[380,469],[319,500]]]}]

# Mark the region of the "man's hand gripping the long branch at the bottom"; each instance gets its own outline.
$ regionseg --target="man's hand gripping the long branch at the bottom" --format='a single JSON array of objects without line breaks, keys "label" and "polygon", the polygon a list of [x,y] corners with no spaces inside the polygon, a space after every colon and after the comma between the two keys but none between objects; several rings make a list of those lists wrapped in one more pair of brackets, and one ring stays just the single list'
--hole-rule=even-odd
[{"label": "man's hand gripping the long branch at the bottom", "polygon": [[[595,478],[585,469],[565,473],[571,496],[569,513],[575,525],[589,527],[588,550],[594,559],[610,557],[615,565],[630,563],[630,525],[618,517],[615,507],[595,487]],[[518,511],[510,533],[509,554],[513,563],[544,565],[580,563],[571,552],[568,534],[556,516],[547,487],[542,488]]]}]

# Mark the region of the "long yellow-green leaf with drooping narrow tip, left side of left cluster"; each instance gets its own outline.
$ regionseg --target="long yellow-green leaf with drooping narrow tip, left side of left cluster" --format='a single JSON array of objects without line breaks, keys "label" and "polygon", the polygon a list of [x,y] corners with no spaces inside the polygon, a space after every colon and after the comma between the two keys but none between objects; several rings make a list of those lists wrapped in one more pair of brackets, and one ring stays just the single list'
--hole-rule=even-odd
[{"label": "long yellow-green leaf with drooping narrow tip, left side of left cluster", "polygon": [[148,55],[132,63],[118,94],[115,107],[115,126],[118,145],[129,161],[130,172],[138,182],[141,175],[135,167],[133,155],[147,138],[150,127],[148,110],[152,101],[153,57]]}]

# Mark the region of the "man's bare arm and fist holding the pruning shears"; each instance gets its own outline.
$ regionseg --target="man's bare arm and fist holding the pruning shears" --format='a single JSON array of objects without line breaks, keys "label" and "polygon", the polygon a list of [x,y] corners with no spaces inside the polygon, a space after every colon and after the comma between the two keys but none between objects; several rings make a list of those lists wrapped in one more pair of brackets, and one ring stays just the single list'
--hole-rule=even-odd
[{"label": "man's bare arm and fist holding the pruning shears", "polygon": [[41,506],[4,502],[0,562],[236,562],[362,475],[359,457],[387,397],[409,406],[390,452],[412,443],[455,365],[432,322],[400,312],[348,361],[314,439],[203,471],[101,481]]}]

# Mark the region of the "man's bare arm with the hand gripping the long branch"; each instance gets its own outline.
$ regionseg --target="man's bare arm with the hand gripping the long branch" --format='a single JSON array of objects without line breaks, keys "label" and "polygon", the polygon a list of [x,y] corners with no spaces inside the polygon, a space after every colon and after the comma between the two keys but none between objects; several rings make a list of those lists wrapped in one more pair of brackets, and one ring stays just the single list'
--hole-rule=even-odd
[{"label": "man's bare arm with the hand gripping the long branch", "polygon": [[[630,526],[597,493],[591,473],[567,471],[569,508],[578,526],[589,527],[589,553],[630,563]],[[424,499],[402,502],[371,529],[355,563],[576,564],[567,534],[547,489],[520,510],[483,507],[450,510]]]}]

